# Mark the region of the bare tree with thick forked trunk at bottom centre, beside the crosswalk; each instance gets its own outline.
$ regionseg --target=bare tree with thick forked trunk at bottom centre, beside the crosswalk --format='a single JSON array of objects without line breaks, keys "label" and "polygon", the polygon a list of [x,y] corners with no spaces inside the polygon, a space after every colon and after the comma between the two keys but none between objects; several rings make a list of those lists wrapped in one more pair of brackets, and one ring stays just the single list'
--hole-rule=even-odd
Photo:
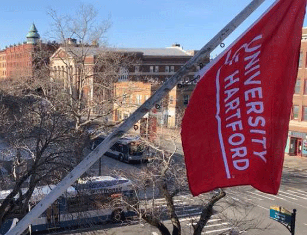
[{"label": "bare tree with thick forked trunk at bottom centre, beside the crosswalk", "polygon": [[[150,163],[144,165],[141,171],[117,172],[125,174],[126,177],[135,181],[136,190],[139,192],[139,206],[131,206],[130,208],[139,215],[140,220],[156,227],[162,235],[200,235],[213,215],[218,215],[219,218],[229,224],[229,227],[232,227],[232,229],[225,230],[223,234],[235,234],[236,231],[268,228],[267,225],[261,224],[263,218],[252,215],[254,205],[234,201],[226,196],[226,192],[223,189],[218,189],[215,192],[195,197],[194,200],[197,201],[199,208],[201,208],[200,217],[190,217],[192,231],[183,229],[174,201],[181,200],[184,202],[184,198],[191,198],[191,195],[188,189],[183,159],[174,154],[177,151],[178,145],[176,145],[176,142],[178,142],[179,132],[168,130],[168,133],[177,134],[170,134],[166,144],[162,143],[165,142],[165,134],[163,139],[158,134],[155,142],[148,142],[148,140],[144,139],[144,142],[151,149],[156,150],[156,156]],[[167,151],[165,146],[168,146]],[[137,177],[135,177],[136,175]],[[161,197],[166,202],[163,205],[159,204]],[[188,204],[190,205],[190,203]],[[165,216],[171,221],[171,229],[163,222]]]}]

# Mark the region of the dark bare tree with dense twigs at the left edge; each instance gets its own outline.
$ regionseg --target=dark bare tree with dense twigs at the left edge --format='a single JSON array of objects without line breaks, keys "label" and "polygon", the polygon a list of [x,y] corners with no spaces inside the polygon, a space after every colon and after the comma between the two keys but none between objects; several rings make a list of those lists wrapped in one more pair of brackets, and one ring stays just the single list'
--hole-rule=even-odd
[{"label": "dark bare tree with dense twigs at the left edge", "polygon": [[9,144],[5,155],[10,157],[4,160],[12,162],[12,184],[0,205],[0,225],[13,214],[23,217],[35,187],[57,183],[82,158],[83,135],[71,120],[39,98],[38,91],[24,92],[1,92],[0,134]]}]

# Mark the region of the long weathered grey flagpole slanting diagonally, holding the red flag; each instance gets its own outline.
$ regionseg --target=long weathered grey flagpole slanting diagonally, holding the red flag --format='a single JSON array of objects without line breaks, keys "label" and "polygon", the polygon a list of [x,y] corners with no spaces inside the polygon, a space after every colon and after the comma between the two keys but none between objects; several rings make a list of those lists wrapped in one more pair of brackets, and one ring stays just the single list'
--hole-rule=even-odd
[{"label": "long weathered grey flagpole slanting diagonally, holding the red flag", "polygon": [[104,141],[89,155],[87,155],[78,166],[76,166],[57,186],[12,228],[6,235],[21,234],[39,215],[68,189],[87,169],[89,169],[117,140],[138,122],[149,110],[155,106],[176,84],[192,69],[195,64],[201,62],[212,52],[216,46],[228,37],[257,7],[265,0],[253,0],[226,27],[218,32],[198,53],[182,66],[177,73],[171,76],[163,85],[133,114],[131,114],[115,131],[109,134]]}]

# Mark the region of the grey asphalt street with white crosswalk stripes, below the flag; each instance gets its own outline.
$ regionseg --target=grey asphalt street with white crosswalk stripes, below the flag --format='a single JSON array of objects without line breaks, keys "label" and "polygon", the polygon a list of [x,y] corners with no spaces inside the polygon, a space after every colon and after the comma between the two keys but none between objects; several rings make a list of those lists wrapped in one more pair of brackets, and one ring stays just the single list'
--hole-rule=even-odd
[{"label": "grey asphalt street with white crosswalk stripes, below the flag", "polygon": [[[165,144],[169,144],[165,142]],[[183,160],[181,146],[176,152],[176,159]],[[102,174],[111,174],[113,170],[135,172],[136,176],[141,171],[140,164],[127,164],[109,157],[101,158]],[[89,172],[97,174],[99,163],[96,162]],[[307,231],[307,172],[295,169],[284,168],[281,179],[281,186],[277,195],[270,195],[255,190],[251,186],[237,186],[224,189],[226,197],[214,206],[215,213],[205,226],[202,234],[227,234],[231,230],[239,232],[238,234],[252,235],[275,235],[290,234],[286,227],[279,222],[270,219],[270,206],[282,206],[290,212],[295,208],[296,214],[296,235],[305,235]],[[192,197],[192,195],[180,195],[174,199],[176,211],[180,218],[182,234],[192,233],[192,221],[197,220],[201,214],[201,205],[212,196],[212,193]],[[202,201],[204,201],[202,203]],[[148,201],[150,203],[150,201]],[[165,199],[155,200],[156,205],[160,205],[163,213],[165,210]],[[234,209],[233,209],[234,208]],[[244,212],[244,213],[241,213]],[[241,214],[241,215],[239,215]],[[171,230],[172,225],[165,214],[165,225]],[[240,223],[249,222],[247,228],[239,226]],[[237,227],[234,227],[234,225]],[[156,228],[148,224],[130,224],[115,228],[107,228],[107,234],[160,234]],[[150,233],[149,233],[150,231]],[[102,233],[101,233],[102,234]],[[236,233],[234,233],[236,234]]]}]

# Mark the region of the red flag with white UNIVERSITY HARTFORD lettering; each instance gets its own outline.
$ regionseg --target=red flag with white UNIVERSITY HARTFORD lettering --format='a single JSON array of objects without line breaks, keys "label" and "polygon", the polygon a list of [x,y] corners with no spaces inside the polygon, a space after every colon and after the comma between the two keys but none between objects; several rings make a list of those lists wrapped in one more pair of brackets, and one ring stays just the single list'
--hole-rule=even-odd
[{"label": "red flag with white UNIVERSITY HARTFORD lettering", "polygon": [[280,0],[201,70],[182,120],[191,193],[236,185],[277,194],[306,0]]}]

